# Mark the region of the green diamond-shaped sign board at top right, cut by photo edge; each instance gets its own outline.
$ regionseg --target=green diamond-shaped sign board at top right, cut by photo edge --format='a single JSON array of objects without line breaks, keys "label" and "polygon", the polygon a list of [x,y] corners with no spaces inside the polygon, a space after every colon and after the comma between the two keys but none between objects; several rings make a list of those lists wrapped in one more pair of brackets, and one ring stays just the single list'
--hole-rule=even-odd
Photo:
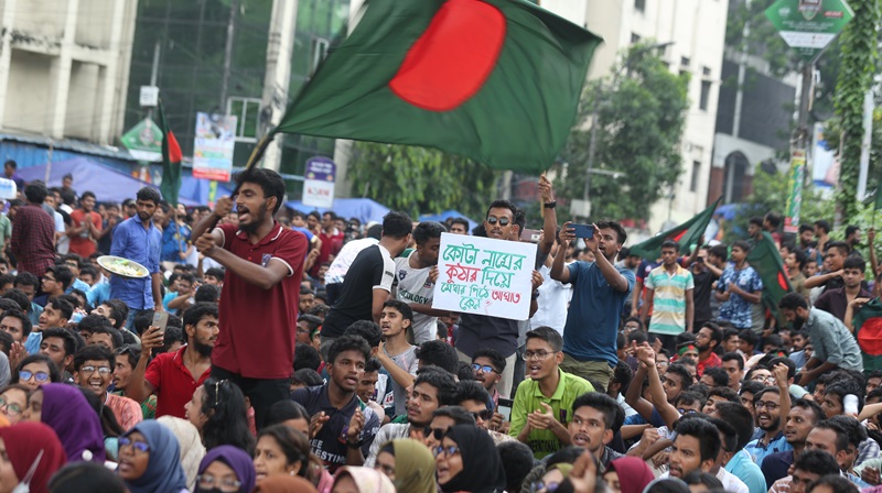
[{"label": "green diamond-shaped sign board at top right, cut by photo edge", "polygon": [[854,12],[846,0],[777,0],[766,9],[765,17],[789,47],[813,62]]}]

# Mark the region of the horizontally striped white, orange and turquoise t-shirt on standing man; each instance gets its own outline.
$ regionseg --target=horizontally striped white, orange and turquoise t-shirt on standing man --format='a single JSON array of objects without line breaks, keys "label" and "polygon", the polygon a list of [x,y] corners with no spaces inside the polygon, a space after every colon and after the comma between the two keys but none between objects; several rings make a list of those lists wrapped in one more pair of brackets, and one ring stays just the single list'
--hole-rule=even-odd
[{"label": "horizontally striped white, orange and turquoise t-shirt on standing man", "polygon": [[649,332],[676,336],[686,330],[686,292],[696,285],[691,272],[675,266],[673,274],[659,265],[646,276],[646,287],[653,289]]}]

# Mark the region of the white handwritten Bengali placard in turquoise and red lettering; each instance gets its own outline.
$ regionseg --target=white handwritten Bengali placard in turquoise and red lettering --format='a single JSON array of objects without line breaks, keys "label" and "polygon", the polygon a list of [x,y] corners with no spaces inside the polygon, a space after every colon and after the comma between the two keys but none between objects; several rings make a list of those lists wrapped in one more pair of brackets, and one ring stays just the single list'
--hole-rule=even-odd
[{"label": "white handwritten Bengali placard in turquoise and red lettering", "polygon": [[432,308],[526,320],[536,244],[441,234]]}]

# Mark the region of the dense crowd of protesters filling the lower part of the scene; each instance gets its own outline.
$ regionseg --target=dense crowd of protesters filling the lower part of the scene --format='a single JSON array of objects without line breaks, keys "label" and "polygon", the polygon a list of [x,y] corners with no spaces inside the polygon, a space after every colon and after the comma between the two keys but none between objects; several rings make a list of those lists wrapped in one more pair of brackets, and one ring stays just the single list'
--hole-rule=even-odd
[{"label": "dense crowd of protesters filling the lower part of the scene", "polygon": [[[872,230],[789,238],[770,211],[642,259],[619,222],[559,221],[545,177],[541,217],[495,200],[471,230],[236,182],[191,210],[22,184],[0,216],[0,493],[882,491]],[[536,242],[528,319],[433,308],[444,233]],[[760,241],[793,286],[776,306]]]}]

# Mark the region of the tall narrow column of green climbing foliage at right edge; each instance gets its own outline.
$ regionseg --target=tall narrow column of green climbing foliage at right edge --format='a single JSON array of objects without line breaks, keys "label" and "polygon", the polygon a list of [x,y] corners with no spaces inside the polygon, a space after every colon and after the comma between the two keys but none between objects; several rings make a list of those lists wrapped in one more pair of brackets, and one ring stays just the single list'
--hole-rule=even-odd
[{"label": "tall narrow column of green climbing foliage at right edge", "polygon": [[850,0],[854,19],[840,34],[841,66],[836,94],[836,114],[845,134],[840,156],[837,211],[845,222],[859,211],[856,200],[863,134],[863,97],[873,83],[879,58],[878,0]]}]

